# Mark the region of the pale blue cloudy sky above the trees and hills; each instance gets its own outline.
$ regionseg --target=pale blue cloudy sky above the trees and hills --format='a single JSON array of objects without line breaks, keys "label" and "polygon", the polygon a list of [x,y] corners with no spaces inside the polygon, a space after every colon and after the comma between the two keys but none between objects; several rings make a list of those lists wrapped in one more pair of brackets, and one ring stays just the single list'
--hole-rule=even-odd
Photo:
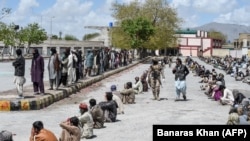
[{"label": "pale blue cloudy sky above the trees and hills", "polygon": [[[0,0],[0,9],[11,8],[4,23],[25,27],[39,23],[48,34],[69,34],[82,40],[88,33],[99,30],[86,26],[109,26],[113,2],[133,0]],[[145,0],[139,0],[145,2]],[[166,0],[183,20],[181,27],[192,28],[211,22],[249,26],[250,0]]]}]

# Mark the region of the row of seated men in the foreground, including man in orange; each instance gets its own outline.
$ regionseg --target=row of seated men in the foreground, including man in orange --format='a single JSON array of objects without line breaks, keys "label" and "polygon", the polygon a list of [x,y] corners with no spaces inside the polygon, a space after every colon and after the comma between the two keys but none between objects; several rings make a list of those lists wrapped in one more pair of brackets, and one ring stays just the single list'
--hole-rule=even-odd
[{"label": "row of seated men in the foreground, including man in orange", "polygon": [[[135,104],[135,95],[148,91],[147,70],[135,82],[127,82],[124,88],[117,90],[116,85],[111,85],[110,91],[105,92],[105,99],[97,102],[92,98],[88,103],[79,104],[79,116],[72,116],[59,123],[62,128],[59,137],[44,128],[42,121],[35,121],[32,124],[30,141],[80,141],[95,137],[94,129],[105,127],[106,122],[116,122],[117,115],[124,114],[124,104]],[[3,131],[0,133],[1,140],[12,140],[12,133]]]}]

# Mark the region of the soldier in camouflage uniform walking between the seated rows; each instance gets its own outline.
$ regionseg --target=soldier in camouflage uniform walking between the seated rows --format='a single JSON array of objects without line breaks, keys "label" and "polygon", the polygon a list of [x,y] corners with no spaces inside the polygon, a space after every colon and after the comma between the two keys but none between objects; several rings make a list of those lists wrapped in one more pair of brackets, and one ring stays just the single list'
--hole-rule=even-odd
[{"label": "soldier in camouflage uniform walking between the seated rows", "polygon": [[165,79],[165,75],[163,73],[162,66],[158,63],[157,59],[152,60],[152,65],[150,65],[148,70],[148,80],[150,81],[149,85],[153,92],[153,100],[160,100],[160,86],[161,84],[161,76]]}]

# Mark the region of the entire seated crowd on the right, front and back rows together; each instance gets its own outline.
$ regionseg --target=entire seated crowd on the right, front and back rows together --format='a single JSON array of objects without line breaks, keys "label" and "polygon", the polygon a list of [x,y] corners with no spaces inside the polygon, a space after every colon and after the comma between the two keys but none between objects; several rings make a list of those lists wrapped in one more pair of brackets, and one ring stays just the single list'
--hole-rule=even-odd
[{"label": "entire seated crowd on the right, front and back rows together", "polygon": [[[227,125],[249,125],[250,124],[250,99],[246,94],[240,92],[238,89],[230,89],[226,87],[226,82],[223,73],[218,73],[216,68],[225,71],[226,75],[230,75],[235,78],[236,81],[238,75],[238,68],[244,68],[248,72],[249,62],[246,57],[241,59],[233,58],[231,56],[220,57],[200,57],[202,61],[207,64],[213,65],[211,70],[205,68],[204,65],[197,63],[196,61],[186,59],[191,71],[195,76],[201,77],[200,83],[203,83],[200,88],[204,90],[204,94],[209,99],[219,102],[221,105],[230,105],[229,116]],[[246,75],[244,75],[246,76]]]}]

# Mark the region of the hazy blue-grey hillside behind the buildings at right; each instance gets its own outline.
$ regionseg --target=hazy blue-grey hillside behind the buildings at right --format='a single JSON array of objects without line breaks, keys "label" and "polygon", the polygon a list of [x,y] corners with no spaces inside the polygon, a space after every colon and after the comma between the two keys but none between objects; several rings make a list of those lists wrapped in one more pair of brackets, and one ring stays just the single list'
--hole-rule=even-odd
[{"label": "hazy blue-grey hillside behind the buildings at right", "polygon": [[237,25],[237,24],[224,24],[224,23],[208,23],[199,27],[195,27],[192,29],[196,30],[216,30],[225,35],[227,35],[227,40],[233,42],[234,39],[239,37],[239,33],[250,33],[250,26],[245,25]]}]

